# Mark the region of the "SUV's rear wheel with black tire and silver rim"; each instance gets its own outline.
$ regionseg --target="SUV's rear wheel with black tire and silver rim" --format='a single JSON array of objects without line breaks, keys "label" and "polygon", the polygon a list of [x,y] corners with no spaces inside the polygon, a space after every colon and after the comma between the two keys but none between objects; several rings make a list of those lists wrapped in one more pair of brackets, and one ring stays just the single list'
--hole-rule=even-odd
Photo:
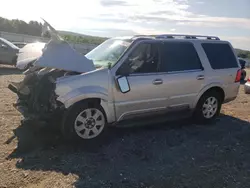
[{"label": "SUV's rear wheel with black tire and silver rim", "polygon": [[208,123],[219,114],[222,105],[222,96],[219,92],[209,91],[204,93],[194,111],[194,118],[199,123]]}]

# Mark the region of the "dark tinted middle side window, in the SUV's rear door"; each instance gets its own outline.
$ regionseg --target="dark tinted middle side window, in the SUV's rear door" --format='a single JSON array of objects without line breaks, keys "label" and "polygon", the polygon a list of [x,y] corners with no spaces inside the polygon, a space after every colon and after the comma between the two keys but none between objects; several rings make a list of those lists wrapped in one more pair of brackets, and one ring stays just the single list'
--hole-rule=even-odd
[{"label": "dark tinted middle side window, in the SUV's rear door", "polygon": [[161,72],[202,69],[200,59],[192,43],[164,43],[161,54]]}]

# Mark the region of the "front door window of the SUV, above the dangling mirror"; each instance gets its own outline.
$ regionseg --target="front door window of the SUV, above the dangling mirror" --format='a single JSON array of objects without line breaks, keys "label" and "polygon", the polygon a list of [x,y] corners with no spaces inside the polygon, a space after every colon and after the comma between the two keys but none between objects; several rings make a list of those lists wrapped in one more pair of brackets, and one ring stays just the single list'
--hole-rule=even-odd
[{"label": "front door window of the SUV, above the dangling mirror", "polygon": [[157,44],[139,44],[130,54],[127,63],[130,74],[157,72],[159,53]]}]

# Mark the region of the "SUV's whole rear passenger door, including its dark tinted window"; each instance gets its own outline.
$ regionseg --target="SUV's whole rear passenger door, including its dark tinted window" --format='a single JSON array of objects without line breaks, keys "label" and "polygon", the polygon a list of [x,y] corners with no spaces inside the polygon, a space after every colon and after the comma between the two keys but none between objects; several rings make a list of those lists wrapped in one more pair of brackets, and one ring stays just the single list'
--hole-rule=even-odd
[{"label": "SUV's whole rear passenger door, including its dark tinted window", "polygon": [[161,46],[161,64],[170,110],[189,109],[199,91],[204,87],[205,72],[196,49],[191,42],[166,41]]}]

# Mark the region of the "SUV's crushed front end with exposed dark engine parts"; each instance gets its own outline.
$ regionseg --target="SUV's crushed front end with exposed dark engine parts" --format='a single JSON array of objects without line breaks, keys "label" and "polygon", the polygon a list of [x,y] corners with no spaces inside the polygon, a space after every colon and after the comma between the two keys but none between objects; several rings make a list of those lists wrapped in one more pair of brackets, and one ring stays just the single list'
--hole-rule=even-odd
[{"label": "SUV's crushed front end with exposed dark engine parts", "polygon": [[29,120],[47,121],[61,116],[64,105],[56,100],[56,79],[72,74],[77,73],[43,68],[27,74],[19,83],[9,84],[8,88],[18,96],[14,107]]}]

